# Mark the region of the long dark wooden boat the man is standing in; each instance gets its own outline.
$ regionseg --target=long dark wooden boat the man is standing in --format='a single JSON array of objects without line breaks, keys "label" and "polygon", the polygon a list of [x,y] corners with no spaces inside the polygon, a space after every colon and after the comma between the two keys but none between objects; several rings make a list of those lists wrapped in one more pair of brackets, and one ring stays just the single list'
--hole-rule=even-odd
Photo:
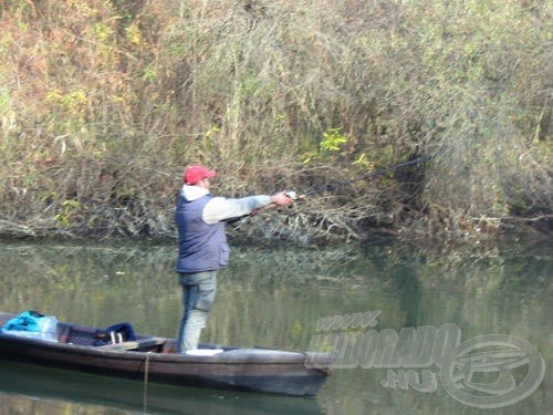
[{"label": "long dark wooden boat the man is standing in", "polygon": [[[0,313],[0,326],[14,317]],[[332,361],[328,353],[216,344],[180,354],[174,339],[148,335],[112,335],[115,342],[94,345],[97,333],[97,328],[70,323],[58,323],[53,340],[2,330],[0,359],[143,382],[295,396],[315,395],[327,376],[323,366]]]}]

